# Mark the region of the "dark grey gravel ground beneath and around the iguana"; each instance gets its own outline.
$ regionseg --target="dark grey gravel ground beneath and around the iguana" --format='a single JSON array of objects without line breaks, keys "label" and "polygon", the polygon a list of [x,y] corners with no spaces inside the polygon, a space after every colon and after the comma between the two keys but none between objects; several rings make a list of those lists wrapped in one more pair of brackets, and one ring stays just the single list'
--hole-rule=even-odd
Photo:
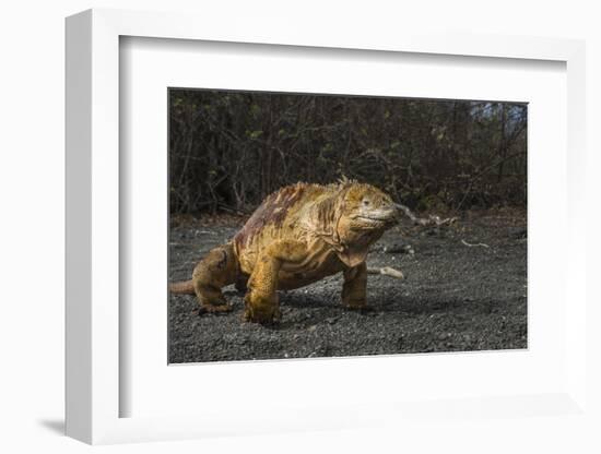
[{"label": "dark grey gravel ground beneath and around the iguana", "polygon": [[[172,227],[170,280],[189,279],[240,225]],[[221,315],[199,315],[196,297],[172,295],[169,362],[526,348],[526,219],[514,213],[466,215],[439,230],[403,225],[374,246],[368,266],[405,278],[369,275],[369,310],[344,309],[342,277],[331,276],[281,291],[278,326],[243,323],[244,295],[233,286],[224,294],[235,310]]]}]

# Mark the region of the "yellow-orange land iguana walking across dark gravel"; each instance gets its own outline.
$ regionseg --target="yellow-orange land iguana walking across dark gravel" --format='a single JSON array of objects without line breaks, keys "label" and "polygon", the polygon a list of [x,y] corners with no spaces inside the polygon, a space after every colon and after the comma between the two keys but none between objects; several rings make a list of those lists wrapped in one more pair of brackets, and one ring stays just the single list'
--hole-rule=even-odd
[{"label": "yellow-orange land iguana walking across dark gravel", "polygon": [[399,217],[398,205],[379,189],[356,181],[296,183],[267,196],[234,238],[212,249],[192,278],[170,285],[174,294],[196,294],[201,310],[229,311],[221,291],[245,290],[243,320],[281,319],[279,289],[294,289],[342,273],[342,302],[366,304],[370,244]]}]

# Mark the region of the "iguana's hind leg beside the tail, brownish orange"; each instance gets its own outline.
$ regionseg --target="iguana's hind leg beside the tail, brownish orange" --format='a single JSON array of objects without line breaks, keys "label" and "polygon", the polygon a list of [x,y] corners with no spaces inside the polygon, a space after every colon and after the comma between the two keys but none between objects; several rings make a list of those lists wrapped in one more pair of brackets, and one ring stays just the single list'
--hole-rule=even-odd
[{"label": "iguana's hind leg beside the tail, brownish orange", "polygon": [[237,259],[231,243],[217,246],[198,263],[192,283],[202,310],[226,312],[232,309],[221,289],[236,282],[237,270]]}]

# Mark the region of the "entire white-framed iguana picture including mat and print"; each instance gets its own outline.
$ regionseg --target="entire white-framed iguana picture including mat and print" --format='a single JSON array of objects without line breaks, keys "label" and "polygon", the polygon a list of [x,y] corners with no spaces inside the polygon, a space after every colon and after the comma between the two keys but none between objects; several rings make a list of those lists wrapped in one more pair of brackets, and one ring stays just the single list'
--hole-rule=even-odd
[{"label": "entire white-framed iguana picture including mat and print", "polygon": [[67,433],[588,418],[584,74],[576,40],[69,17]]}]

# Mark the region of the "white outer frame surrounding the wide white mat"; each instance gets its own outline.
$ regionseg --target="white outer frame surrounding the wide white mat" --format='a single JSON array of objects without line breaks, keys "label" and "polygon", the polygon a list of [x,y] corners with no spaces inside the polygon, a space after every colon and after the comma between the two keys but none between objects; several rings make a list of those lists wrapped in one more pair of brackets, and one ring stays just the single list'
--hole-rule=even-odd
[{"label": "white outer frame surrounding the wide white mat", "polygon": [[[90,10],[67,20],[67,434],[87,443],[173,440],[234,433],[271,433],[444,419],[447,403],[381,402],[307,407],[284,414],[240,408],[235,416],[120,417],[119,336],[119,38],[123,36],[246,43],[307,48],[363,49],[495,59],[564,62],[567,72],[567,215],[565,386],[544,394],[457,396],[463,418],[474,415],[525,419],[535,408],[573,421],[588,418],[586,395],[585,231],[585,44],[511,36],[436,35],[394,32],[330,35],[303,26],[261,28],[245,22],[224,26],[186,14]],[[122,181],[121,181],[122,183]],[[350,411],[350,408],[356,411]],[[447,408],[447,409],[446,409]],[[451,411],[451,413],[452,413]],[[352,416],[351,416],[352,415]],[[385,422],[386,421],[386,422]]]}]

